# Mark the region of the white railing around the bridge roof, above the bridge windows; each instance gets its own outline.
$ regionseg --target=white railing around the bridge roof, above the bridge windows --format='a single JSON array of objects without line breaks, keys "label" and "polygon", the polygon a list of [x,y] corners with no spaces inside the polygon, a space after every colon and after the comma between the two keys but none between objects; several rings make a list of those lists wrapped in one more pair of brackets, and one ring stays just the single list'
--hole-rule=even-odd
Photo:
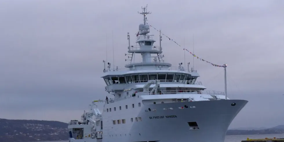
[{"label": "white railing around the bridge roof, above the bridge windows", "polygon": [[[103,72],[116,72],[116,71],[132,71],[132,70],[175,70],[175,71],[185,71],[185,72],[192,72],[192,73],[196,73],[197,70],[186,70],[184,68],[181,67],[159,67],[157,65],[144,65],[143,63],[146,62],[132,62],[132,63],[141,63],[141,65],[139,65],[139,67],[134,67],[134,68],[114,68],[114,69],[105,69],[103,70]],[[132,64],[132,63],[128,63],[126,65]],[[150,63],[150,62],[147,62]],[[151,62],[151,63],[165,63],[165,62]]]}]

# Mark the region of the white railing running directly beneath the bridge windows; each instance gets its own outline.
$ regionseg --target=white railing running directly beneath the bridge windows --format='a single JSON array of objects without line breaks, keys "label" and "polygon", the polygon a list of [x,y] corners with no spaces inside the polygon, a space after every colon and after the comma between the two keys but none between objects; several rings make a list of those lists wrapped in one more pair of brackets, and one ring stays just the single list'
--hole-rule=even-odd
[{"label": "white railing running directly beneath the bridge windows", "polygon": [[[190,84],[190,85],[202,85],[201,81],[195,81],[194,83],[190,83],[191,80],[162,80],[159,79],[160,82],[170,82],[170,83],[183,83],[183,84]],[[132,85],[137,85],[139,83],[148,82],[148,80],[140,80],[140,81],[129,81],[128,87]]]}]

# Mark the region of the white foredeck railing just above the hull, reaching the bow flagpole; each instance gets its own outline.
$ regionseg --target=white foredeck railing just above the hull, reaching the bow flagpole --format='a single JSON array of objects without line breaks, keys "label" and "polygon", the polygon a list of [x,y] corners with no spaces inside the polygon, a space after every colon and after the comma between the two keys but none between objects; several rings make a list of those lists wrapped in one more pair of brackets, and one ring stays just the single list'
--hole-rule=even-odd
[{"label": "white foredeck railing just above the hull, reaching the bow flagpole", "polygon": [[[159,90],[159,91],[157,91],[157,95],[162,95],[162,94],[200,94],[200,95],[209,94],[215,100],[220,99],[216,95],[225,95],[224,92],[214,91],[214,90]],[[149,95],[153,95],[153,94],[149,94]],[[109,98],[108,103],[114,103],[116,101],[130,99],[131,97],[132,96],[130,95],[128,97],[119,97],[118,99]],[[134,97],[139,97],[139,96],[134,96]],[[105,103],[107,103],[107,101]]]}]

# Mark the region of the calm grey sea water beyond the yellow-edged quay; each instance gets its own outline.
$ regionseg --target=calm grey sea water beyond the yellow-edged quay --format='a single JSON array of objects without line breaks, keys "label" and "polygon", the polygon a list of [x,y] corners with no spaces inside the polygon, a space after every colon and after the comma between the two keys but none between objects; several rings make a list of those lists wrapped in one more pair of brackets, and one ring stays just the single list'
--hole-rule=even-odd
[{"label": "calm grey sea water beyond the yellow-edged quay", "polygon": [[[250,139],[264,139],[264,138],[273,138],[273,137],[283,138],[284,134],[226,136],[225,142],[241,142],[242,140],[246,140],[247,137],[250,138]],[[68,142],[68,141],[53,141],[53,142]]]}]

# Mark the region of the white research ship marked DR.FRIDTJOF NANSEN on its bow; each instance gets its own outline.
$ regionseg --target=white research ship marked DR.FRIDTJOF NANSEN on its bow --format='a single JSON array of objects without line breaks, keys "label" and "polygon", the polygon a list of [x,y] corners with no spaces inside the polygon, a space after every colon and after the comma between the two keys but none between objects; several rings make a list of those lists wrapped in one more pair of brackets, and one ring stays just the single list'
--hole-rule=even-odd
[{"label": "white research ship marked DR.FRIDTJOF NANSEN on its bow", "polygon": [[[69,142],[224,142],[230,123],[248,101],[227,98],[226,89],[206,90],[190,63],[186,70],[182,63],[175,68],[165,62],[161,31],[159,46],[149,34],[146,15],[151,12],[146,6],[138,13],[143,23],[135,46],[127,34],[126,69],[103,61],[108,97],[93,100],[80,121],[69,122]],[[142,62],[134,62],[135,54]]]}]

